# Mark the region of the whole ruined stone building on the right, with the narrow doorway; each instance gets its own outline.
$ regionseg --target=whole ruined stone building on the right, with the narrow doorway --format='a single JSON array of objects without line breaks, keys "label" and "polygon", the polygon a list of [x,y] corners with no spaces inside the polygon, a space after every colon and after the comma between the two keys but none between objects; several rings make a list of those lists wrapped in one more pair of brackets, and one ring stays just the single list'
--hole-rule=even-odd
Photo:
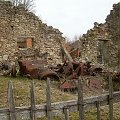
[{"label": "whole ruined stone building on the right, with the narrow doorway", "polygon": [[[107,64],[113,68],[120,66],[120,3],[103,24],[94,23],[94,27],[82,36],[82,59],[93,63]],[[120,68],[120,67],[119,67]]]}]

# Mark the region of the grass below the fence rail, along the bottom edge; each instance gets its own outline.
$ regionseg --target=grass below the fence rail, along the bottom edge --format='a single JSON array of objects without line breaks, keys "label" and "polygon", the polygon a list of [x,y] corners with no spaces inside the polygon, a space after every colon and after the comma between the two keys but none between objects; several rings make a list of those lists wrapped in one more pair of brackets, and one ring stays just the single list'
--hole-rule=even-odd
[{"label": "grass below the fence rail, along the bottom edge", "polygon": [[[113,119],[114,120],[120,120],[120,103],[117,103],[114,105],[114,115],[113,115]],[[96,108],[92,107],[92,108],[88,108],[87,110],[85,110],[84,113],[84,120],[97,120],[97,112],[96,112]],[[104,106],[101,107],[100,110],[100,115],[101,115],[101,120],[109,120],[109,107],[108,106]],[[64,115],[62,115],[61,117],[53,117],[53,120],[63,120]],[[69,115],[69,119],[70,120],[79,120],[79,113],[78,112],[72,112]],[[44,118],[40,118],[38,120],[47,120],[46,117]]]}]

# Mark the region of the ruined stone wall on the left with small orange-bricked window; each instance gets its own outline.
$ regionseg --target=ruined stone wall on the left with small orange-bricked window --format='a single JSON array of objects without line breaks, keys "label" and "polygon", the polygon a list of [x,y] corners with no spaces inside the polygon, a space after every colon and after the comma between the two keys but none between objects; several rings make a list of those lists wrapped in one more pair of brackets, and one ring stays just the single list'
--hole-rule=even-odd
[{"label": "ruined stone wall on the left with small orange-bricked window", "polygon": [[62,33],[42,23],[22,5],[0,1],[0,61],[8,56],[18,59],[47,59],[50,64],[62,62]]}]

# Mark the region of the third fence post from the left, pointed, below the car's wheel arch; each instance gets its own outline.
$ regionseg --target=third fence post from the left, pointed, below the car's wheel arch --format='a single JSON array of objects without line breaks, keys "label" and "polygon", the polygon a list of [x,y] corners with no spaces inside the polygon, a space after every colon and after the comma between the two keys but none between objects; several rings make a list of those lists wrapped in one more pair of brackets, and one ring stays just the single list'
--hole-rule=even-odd
[{"label": "third fence post from the left, pointed, below the car's wheel arch", "polygon": [[48,118],[48,120],[52,120],[50,78],[47,78],[46,102],[47,102],[47,106],[46,106],[46,109],[47,109],[47,118]]}]

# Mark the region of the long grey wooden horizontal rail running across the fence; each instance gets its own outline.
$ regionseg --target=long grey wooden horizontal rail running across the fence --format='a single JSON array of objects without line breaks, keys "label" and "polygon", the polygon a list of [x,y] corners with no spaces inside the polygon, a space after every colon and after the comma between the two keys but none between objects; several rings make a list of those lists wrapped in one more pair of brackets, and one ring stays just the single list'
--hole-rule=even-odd
[{"label": "long grey wooden horizontal rail running across the fence", "polygon": [[[114,103],[120,102],[120,91],[113,93]],[[84,109],[94,106],[96,107],[97,101],[99,101],[101,106],[109,104],[109,94],[103,94],[101,96],[94,96],[85,98],[83,100]],[[35,106],[35,116],[37,118],[44,117],[47,114],[47,105],[36,105]],[[78,111],[78,100],[70,100],[65,102],[51,103],[52,115],[60,115],[66,112],[66,108],[69,112]],[[65,110],[65,111],[64,111]],[[17,120],[27,120],[31,119],[31,106],[26,107],[15,107],[15,113]],[[9,120],[9,109],[0,109],[0,120]],[[66,116],[67,117],[67,116]]]}]

